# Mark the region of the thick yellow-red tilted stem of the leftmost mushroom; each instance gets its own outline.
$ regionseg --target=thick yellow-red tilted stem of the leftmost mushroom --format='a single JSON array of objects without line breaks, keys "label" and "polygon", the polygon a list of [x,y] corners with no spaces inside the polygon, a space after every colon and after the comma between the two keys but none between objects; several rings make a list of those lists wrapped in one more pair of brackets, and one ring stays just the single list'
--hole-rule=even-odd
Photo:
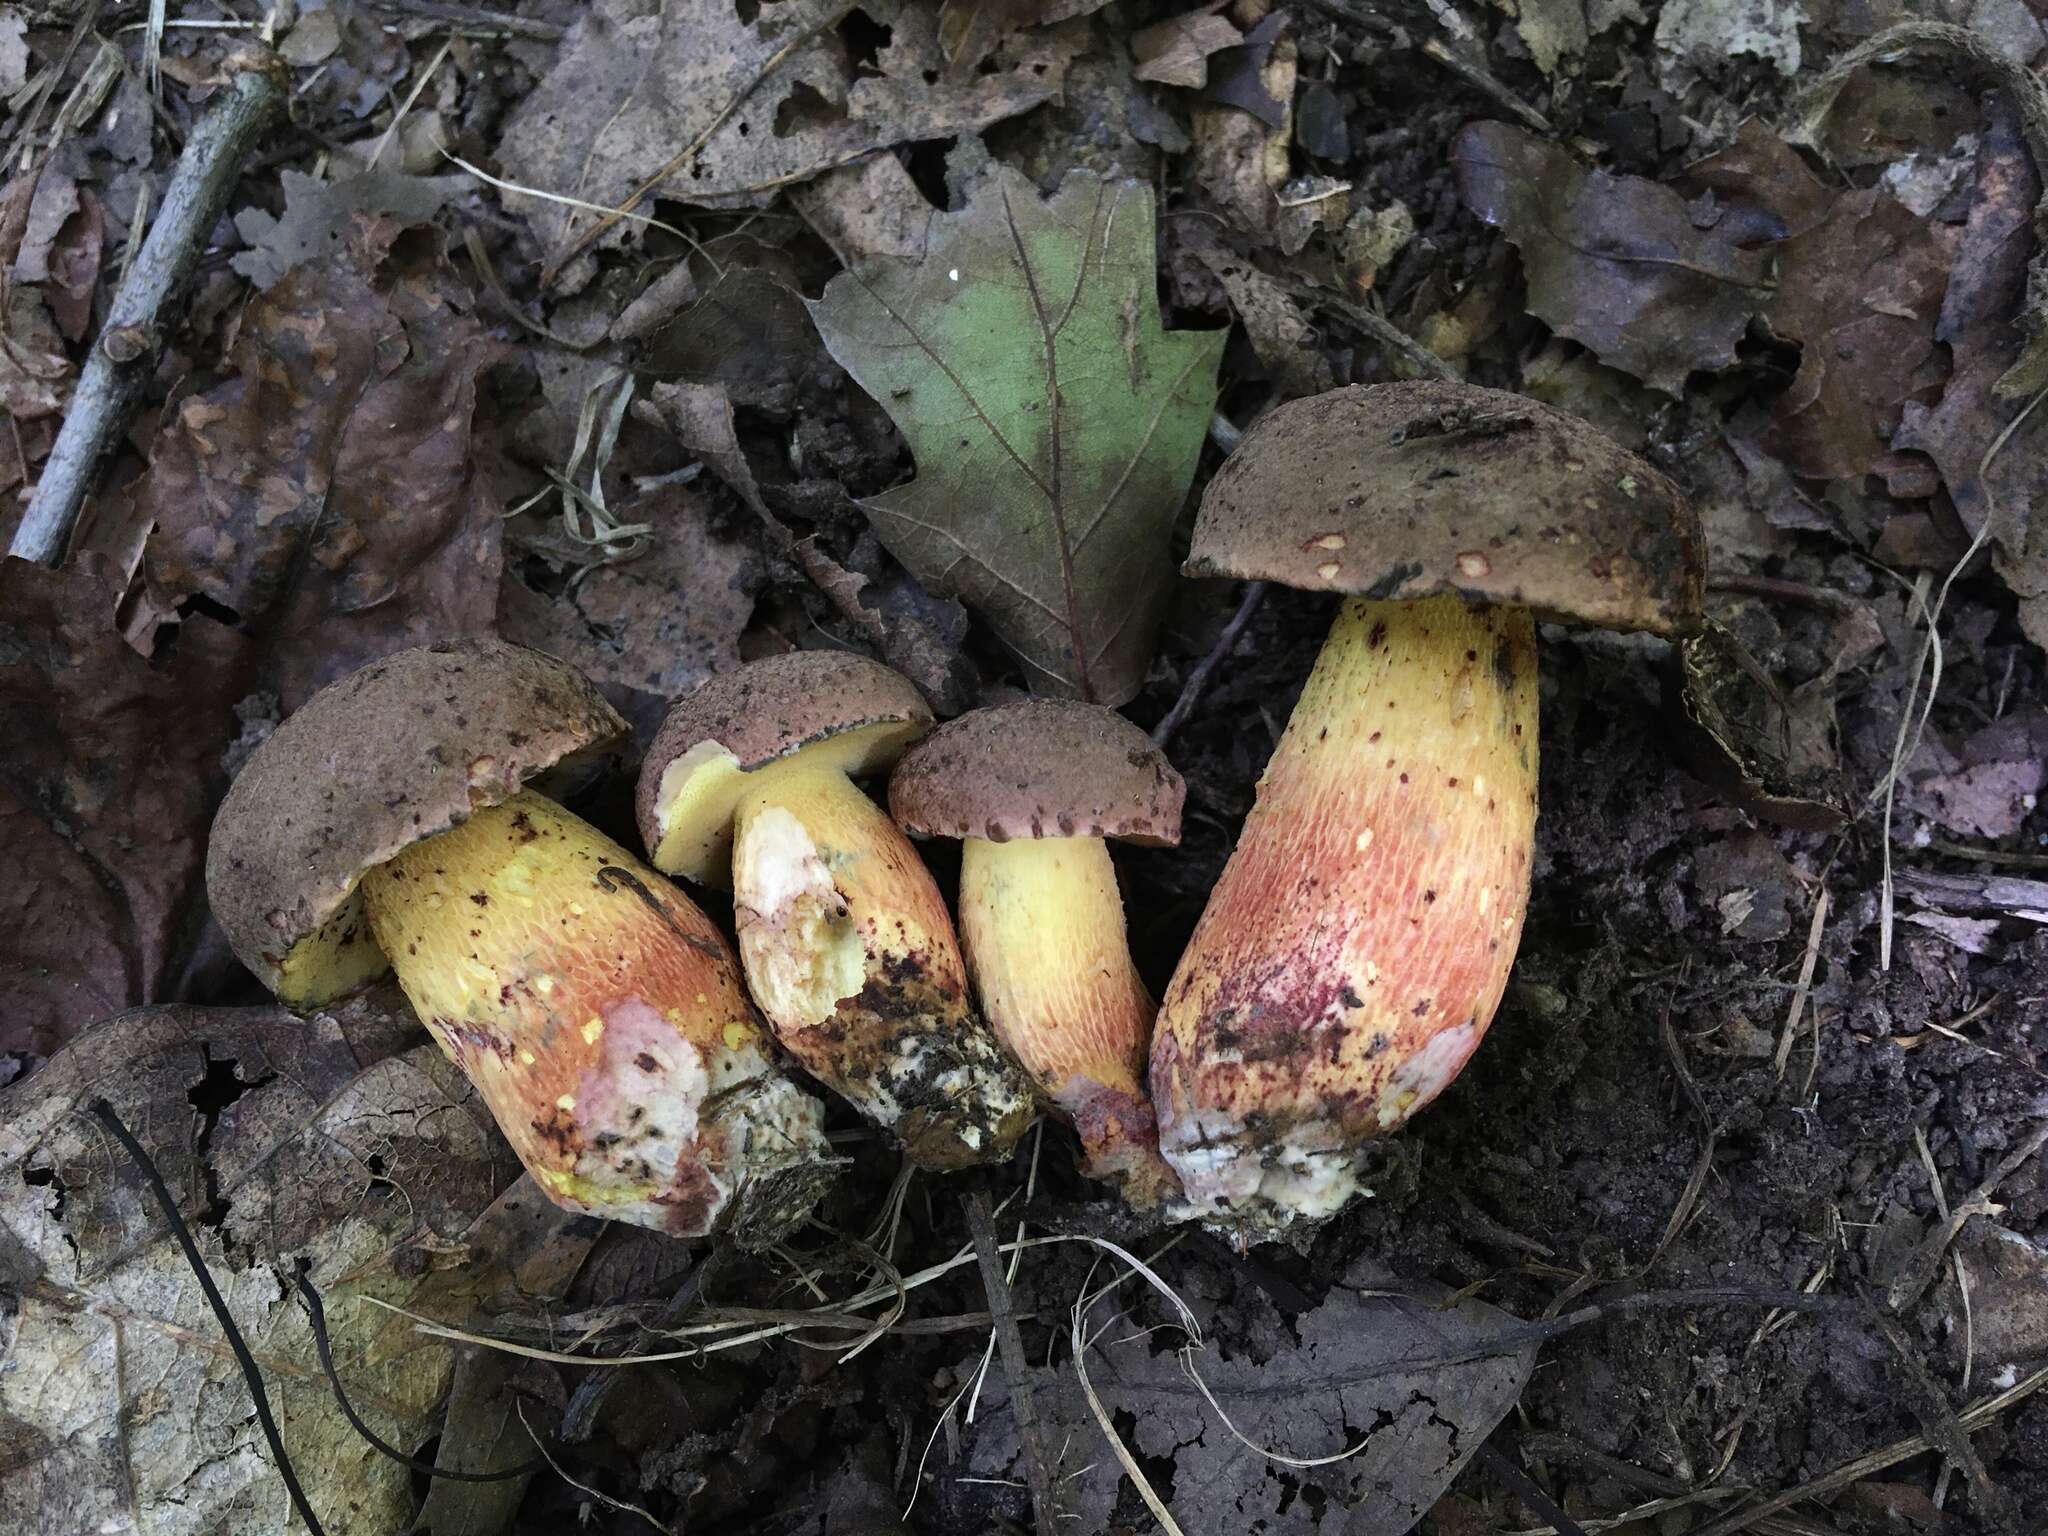
[{"label": "thick yellow-red tilted stem of the leftmost mushroom", "polygon": [[725,938],[553,801],[481,807],[362,877],[414,1012],[561,1206],[780,1239],[829,1182]]}]

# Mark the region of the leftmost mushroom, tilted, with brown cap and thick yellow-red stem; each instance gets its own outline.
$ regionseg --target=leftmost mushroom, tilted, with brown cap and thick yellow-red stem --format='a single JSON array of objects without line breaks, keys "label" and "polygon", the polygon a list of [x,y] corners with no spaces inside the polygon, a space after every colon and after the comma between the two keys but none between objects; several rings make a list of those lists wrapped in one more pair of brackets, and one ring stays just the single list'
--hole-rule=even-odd
[{"label": "leftmost mushroom, tilted, with brown cap and thick yellow-red stem", "polygon": [[256,748],[213,821],[207,895],[293,1008],[389,965],[557,1204],[770,1243],[831,1178],[823,1104],[770,1061],[711,920],[528,788],[623,733],[539,651],[399,651]]}]

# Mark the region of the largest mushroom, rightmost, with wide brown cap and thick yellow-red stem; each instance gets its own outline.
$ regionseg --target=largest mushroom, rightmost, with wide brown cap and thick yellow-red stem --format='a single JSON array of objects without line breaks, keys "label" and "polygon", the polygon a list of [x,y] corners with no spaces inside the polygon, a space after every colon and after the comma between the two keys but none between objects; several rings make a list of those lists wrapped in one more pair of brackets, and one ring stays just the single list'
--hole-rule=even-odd
[{"label": "largest mushroom, rightmost, with wide brown cap and thick yellow-red stem", "polygon": [[1536,618],[1671,635],[1706,551],[1585,422],[1452,383],[1333,389],[1251,432],[1190,575],[1341,592],[1159,1010],[1159,1143],[1241,1239],[1335,1212],[1360,1147],[1493,1020],[1536,825]]}]

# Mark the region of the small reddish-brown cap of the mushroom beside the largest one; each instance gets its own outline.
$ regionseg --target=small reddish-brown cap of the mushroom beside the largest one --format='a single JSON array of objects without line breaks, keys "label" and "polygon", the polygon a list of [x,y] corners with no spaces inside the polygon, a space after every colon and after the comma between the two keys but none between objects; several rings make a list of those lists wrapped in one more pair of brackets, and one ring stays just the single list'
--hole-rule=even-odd
[{"label": "small reddish-brown cap of the mushroom beside the largest one", "polygon": [[1180,842],[1188,786],[1102,705],[1034,698],[961,715],[903,754],[889,811],[924,838]]}]

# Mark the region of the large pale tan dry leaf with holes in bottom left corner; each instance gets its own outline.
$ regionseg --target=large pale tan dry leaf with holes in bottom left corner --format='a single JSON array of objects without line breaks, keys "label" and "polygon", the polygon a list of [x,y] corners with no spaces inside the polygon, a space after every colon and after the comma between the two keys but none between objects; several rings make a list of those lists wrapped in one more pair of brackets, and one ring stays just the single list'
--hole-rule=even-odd
[{"label": "large pale tan dry leaf with holes in bottom left corner", "polygon": [[[391,995],[395,1001],[395,995]],[[139,1174],[86,1106],[104,1098],[158,1161],[266,1376],[299,1481],[334,1536],[385,1536],[412,1475],[346,1423],[293,1294],[322,1288],[336,1364],[385,1440],[418,1448],[449,1352],[365,1348],[412,1280],[395,1245],[459,1243],[518,1171],[469,1085],[403,1004],[121,1014],[0,1092],[0,1526],[152,1536],[297,1528],[248,1389]],[[395,1055],[393,1055],[395,1053]]]}]

